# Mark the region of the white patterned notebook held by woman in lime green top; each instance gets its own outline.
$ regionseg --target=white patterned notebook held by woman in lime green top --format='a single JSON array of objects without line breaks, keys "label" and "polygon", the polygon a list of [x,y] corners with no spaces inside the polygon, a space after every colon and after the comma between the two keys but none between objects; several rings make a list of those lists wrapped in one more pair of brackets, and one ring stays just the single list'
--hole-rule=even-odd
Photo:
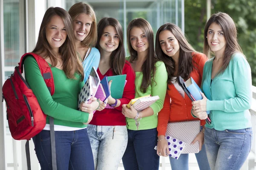
[{"label": "white patterned notebook held by woman in lime green top", "polygon": [[153,104],[154,102],[156,102],[159,99],[159,96],[151,96],[148,98],[139,98],[134,104],[133,107],[134,109],[137,110],[137,112],[141,112],[142,110],[148,108],[149,106],[151,106],[151,104]]}]

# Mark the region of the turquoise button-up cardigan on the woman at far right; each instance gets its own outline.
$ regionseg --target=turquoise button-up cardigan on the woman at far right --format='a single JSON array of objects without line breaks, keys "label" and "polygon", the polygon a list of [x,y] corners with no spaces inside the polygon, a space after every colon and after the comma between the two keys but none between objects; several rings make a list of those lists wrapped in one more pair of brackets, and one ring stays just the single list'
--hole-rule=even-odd
[{"label": "turquoise button-up cardigan on the woman at far right", "polygon": [[239,130],[251,127],[250,104],[252,78],[249,63],[240,53],[235,53],[223,74],[212,79],[212,61],[204,65],[201,89],[207,97],[206,109],[210,110],[215,130]]}]

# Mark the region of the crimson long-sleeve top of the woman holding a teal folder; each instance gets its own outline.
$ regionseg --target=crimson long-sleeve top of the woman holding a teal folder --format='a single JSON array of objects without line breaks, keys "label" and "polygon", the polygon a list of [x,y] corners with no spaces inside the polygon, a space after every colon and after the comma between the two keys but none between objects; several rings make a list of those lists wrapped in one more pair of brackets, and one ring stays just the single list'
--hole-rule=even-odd
[{"label": "crimson long-sleeve top of the woman holding a teal folder", "polygon": [[[100,80],[105,76],[112,76],[113,71],[109,69],[104,75],[101,74],[99,68],[97,69]],[[103,109],[102,111],[96,111],[93,115],[90,124],[99,126],[125,126],[125,116],[122,114],[122,104],[128,104],[131,99],[135,97],[135,72],[128,61],[125,61],[122,74],[126,74],[127,83],[125,84],[122,98],[119,98],[121,104],[114,109]]]}]

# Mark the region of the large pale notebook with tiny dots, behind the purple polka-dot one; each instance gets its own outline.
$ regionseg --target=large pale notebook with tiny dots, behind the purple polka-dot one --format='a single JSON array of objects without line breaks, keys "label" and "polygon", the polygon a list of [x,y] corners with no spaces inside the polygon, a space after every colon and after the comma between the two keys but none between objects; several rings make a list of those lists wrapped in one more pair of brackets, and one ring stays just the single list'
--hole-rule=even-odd
[{"label": "large pale notebook with tiny dots, behind the purple polka-dot one", "polygon": [[199,143],[195,144],[191,142],[200,132],[200,121],[183,121],[176,123],[168,123],[166,136],[172,136],[180,141],[186,142],[186,147],[184,147],[182,153],[198,153]]}]

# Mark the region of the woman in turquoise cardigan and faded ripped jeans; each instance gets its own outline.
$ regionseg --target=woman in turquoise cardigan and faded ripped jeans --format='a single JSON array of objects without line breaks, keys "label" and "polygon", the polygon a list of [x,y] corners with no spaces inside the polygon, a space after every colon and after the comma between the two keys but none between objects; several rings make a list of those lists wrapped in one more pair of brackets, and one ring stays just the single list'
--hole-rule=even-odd
[{"label": "woman in turquoise cardigan and faded ripped jeans", "polygon": [[213,14],[204,29],[204,53],[215,57],[204,65],[203,99],[192,102],[192,113],[209,117],[204,141],[212,170],[239,170],[253,140],[250,122],[252,79],[250,66],[238,44],[236,25],[225,13]]}]

